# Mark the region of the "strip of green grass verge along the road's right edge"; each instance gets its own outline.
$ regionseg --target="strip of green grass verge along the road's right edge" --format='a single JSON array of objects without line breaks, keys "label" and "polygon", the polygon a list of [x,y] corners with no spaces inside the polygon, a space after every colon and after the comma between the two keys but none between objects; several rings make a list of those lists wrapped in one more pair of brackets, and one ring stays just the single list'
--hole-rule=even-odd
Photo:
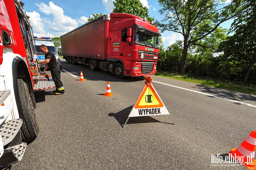
[{"label": "strip of green grass verge along the road's right edge", "polygon": [[172,75],[172,74],[161,73],[161,72],[157,72],[155,75],[158,75],[161,77],[166,77],[166,78],[171,78],[171,79],[176,79],[176,80],[181,80],[181,81],[186,81],[186,82],[190,82],[190,83],[196,83],[196,84],[200,84],[200,85],[210,86],[210,87],[217,87],[220,89],[236,91],[236,92],[240,92],[240,93],[246,93],[246,94],[250,94],[250,95],[256,95],[255,88],[231,84],[231,83],[222,83],[221,81],[216,81],[216,80],[211,80],[211,79],[210,80],[195,79],[195,78],[190,78],[188,76]]}]

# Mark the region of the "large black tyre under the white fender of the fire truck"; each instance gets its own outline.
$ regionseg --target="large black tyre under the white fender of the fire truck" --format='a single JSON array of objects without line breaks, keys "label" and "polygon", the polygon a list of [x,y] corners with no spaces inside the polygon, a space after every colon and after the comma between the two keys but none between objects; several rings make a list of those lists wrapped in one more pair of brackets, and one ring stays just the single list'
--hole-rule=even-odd
[{"label": "large black tyre under the white fender of the fire truck", "polygon": [[39,126],[28,87],[22,79],[18,79],[18,91],[24,116],[21,126],[21,140],[27,142],[37,137]]}]

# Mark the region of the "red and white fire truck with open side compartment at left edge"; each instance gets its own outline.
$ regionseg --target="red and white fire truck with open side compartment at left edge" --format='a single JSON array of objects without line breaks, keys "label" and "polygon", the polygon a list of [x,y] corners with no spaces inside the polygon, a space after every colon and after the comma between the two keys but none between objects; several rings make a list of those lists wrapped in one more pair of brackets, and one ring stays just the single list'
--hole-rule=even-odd
[{"label": "red and white fire truck with open side compartment at left edge", "polygon": [[26,142],[38,135],[34,91],[55,87],[40,75],[23,5],[18,0],[0,0],[0,167],[20,161]]}]

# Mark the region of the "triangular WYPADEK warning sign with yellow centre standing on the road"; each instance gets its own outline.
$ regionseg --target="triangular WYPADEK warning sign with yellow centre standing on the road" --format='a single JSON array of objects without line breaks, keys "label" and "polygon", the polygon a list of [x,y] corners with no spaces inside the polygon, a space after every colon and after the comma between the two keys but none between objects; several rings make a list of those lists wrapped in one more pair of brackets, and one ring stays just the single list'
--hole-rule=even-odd
[{"label": "triangular WYPADEK warning sign with yellow centre standing on the road", "polygon": [[146,84],[128,117],[169,114],[152,84]]}]

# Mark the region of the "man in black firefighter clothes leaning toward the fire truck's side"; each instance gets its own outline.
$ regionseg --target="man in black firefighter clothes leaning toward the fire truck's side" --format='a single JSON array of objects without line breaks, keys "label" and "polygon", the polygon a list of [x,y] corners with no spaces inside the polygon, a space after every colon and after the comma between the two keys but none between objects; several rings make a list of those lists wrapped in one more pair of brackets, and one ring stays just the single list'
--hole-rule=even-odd
[{"label": "man in black firefighter clothes leaning toward the fire truck's side", "polygon": [[56,61],[56,57],[55,55],[48,51],[48,48],[46,47],[46,45],[41,44],[39,46],[39,49],[42,53],[45,54],[44,61],[38,61],[38,64],[45,64],[44,70],[42,71],[42,74],[45,74],[45,71],[47,70],[47,68],[49,68],[50,72],[51,72],[51,77],[55,83],[55,87],[56,90],[54,90],[53,92],[55,93],[55,95],[61,95],[63,94],[64,91],[64,87],[63,84],[60,80],[60,68],[57,65],[57,61]]}]

